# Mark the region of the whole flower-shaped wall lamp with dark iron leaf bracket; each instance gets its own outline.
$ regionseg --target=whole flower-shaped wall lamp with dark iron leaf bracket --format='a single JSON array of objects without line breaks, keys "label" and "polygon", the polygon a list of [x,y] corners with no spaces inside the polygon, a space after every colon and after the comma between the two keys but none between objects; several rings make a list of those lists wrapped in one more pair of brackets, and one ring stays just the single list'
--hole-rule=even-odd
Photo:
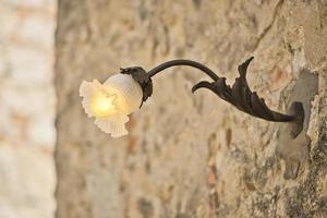
[{"label": "whole flower-shaped wall lamp with dark iron leaf bracket", "polygon": [[95,124],[112,137],[128,134],[125,123],[129,114],[141,108],[153,94],[153,76],[175,65],[189,65],[207,74],[213,82],[202,81],[195,84],[192,93],[198,88],[207,88],[219,98],[233,105],[255,118],[271,122],[289,122],[292,124],[291,135],[295,137],[303,129],[304,109],[302,102],[295,101],[289,109],[289,114],[274,111],[265,100],[252,92],[246,81],[246,70],[253,57],[239,65],[239,77],[232,86],[226,84],[225,77],[219,77],[207,66],[191,60],[172,60],[146,72],[141,66],[121,69],[119,74],[110,76],[104,84],[97,80],[85,82],[80,86],[82,105],[89,118],[95,118]]}]

